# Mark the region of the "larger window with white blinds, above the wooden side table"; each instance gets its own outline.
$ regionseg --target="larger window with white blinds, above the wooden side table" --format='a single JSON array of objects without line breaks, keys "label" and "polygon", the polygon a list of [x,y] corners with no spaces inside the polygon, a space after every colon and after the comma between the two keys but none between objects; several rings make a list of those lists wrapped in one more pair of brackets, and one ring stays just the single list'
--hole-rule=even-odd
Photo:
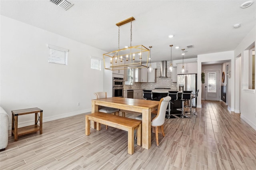
[{"label": "larger window with white blinds, above the wooden side table", "polygon": [[68,49],[48,45],[48,62],[68,65]]}]

